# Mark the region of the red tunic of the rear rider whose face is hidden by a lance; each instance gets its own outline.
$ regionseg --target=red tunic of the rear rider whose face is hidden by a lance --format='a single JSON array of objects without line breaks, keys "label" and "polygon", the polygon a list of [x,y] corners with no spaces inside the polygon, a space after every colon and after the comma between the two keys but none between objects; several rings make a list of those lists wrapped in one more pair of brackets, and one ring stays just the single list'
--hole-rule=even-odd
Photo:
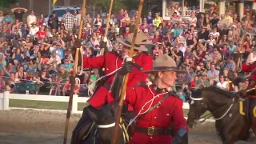
[{"label": "red tunic of the rear rider whose face is hidden by a lance", "polygon": [[[153,59],[151,56],[147,54],[138,54],[134,57],[134,62],[136,62],[139,66],[142,67],[143,70],[152,70]],[[122,58],[119,58],[117,54],[114,52],[107,53],[104,56],[99,56],[95,58],[84,58],[83,66],[85,68],[104,68],[104,74],[110,74],[117,68],[122,66]],[[114,74],[106,77],[106,83],[111,85],[114,81]],[[129,74],[129,79],[127,86],[135,86],[138,82],[145,82],[147,74],[142,73],[142,70],[138,70],[138,68],[134,67],[131,74]],[[94,96],[90,98],[87,102],[90,103],[90,106],[98,109],[102,107],[106,102],[114,102],[114,98],[112,98],[110,94],[110,90],[104,86],[98,88],[98,90],[94,93]]]}]

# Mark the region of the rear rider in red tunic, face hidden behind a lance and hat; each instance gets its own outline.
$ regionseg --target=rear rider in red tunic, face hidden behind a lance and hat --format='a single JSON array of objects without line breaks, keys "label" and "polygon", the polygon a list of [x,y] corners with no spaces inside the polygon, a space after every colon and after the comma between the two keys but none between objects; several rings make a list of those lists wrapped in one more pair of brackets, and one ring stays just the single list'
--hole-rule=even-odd
[{"label": "rear rider in red tunic, face hidden behind a lance and hat", "polygon": [[[94,92],[92,98],[90,98],[87,102],[90,103],[90,106],[87,106],[86,109],[90,110],[98,110],[106,103],[114,102],[113,96],[110,94],[110,86],[114,81],[114,74],[122,67],[124,59],[127,58],[127,55],[130,53],[130,45],[133,39],[134,34],[129,34],[127,36],[126,42],[123,42],[122,39],[118,39],[123,46],[118,48],[115,51],[111,51],[106,53],[104,56],[99,56],[95,58],[83,58],[83,67],[84,68],[98,68],[103,69],[103,73],[106,76],[105,82],[103,86],[99,86],[98,90]],[[138,33],[136,42],[134,46],[134,63],[136,65],[133,68],[133,72],[129,75],[129,82],[127,86],[135,86],[140,82],[146,82],[147,74],[142,73],[142,70],[151,70],[153,66],[152,57],[145,52],[146,48],[146,36],[142,32]],[[74,48],[80,47],[81,42],[74,42]],[[75,51],[75,50],[73,50]],[[81,62],[78,62],[81,63]],[[142,70],[141,70],[142,69]],[[82,114],[82,118],[79,120],[77,126],[74,128],[74,132],[72,135],[72,142],[79,140],[78,133],[82,129],[82,126],[91,124],[91,118],[85,112]]]}]

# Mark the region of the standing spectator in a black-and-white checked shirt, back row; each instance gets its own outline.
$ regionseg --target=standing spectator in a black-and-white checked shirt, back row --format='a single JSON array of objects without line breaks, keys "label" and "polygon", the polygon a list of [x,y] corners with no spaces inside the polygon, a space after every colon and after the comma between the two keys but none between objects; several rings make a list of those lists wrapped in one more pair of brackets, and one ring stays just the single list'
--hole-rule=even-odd
[{"label": "standing spectator in a black-and-white checked shirt, back row", "polygon": [[66,14],[63,15],[62,22],[64,22],[65,29],[69,32],[72,31],[75,24],[75,17],[73,14],[70,14],[70,9],[66,9]]}]

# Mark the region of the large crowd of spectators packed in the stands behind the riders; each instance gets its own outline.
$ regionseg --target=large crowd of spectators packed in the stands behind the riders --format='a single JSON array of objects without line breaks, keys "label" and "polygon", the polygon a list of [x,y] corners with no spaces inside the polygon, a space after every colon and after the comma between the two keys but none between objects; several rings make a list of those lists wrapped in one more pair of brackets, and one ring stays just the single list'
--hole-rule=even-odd
[{"label": "large crowd of spectators packed in the stands behind the riders", "polygon": [[[70,72],[74,58],[71,54],[81,11],[66,10],[62,20],[53,13],[46,22],[43,14],[37,18],[31,10],[26,21],[26,9],[15,8],[10,13],[0,11],[0,88],[17,92],[31,87],[34,93],[49,90],[50,95],[65,95],[70,90]],[[108,50],[120,46],[116,38],[126,38],[133,33],[138,11],[131,16],[121,9],[110,15]],[[106,30],[106,17],[100,14],[91,18],[86,14],[82,28],[84,54],[97,57],[102,48]],[[163,20],[159,13],[151,12],[139,22],[139,30],[146,34],[149,54],[154,58],[168,54],[188,74],[179,74],[174,90],[186,101],[188,87],[218,86],[223,90],[238,91],[248,89],[254,83],[246,67],[256,60],[254,15],[230,14],[229,10],[220,18],[197,10],[189,18],[181,18],[174,12],[170,20]],[[242,69],[243,67],[243,69]],[[242,78],[244,76],[244,79]],[[94,93],[98,70],[84,72],[81,84],[75,87],[76,94]],[[149,78],[150,79],[150,78]],[[22,83],[22,85],[21,85]],[[34,85],[31,85],[34,84]]]}]

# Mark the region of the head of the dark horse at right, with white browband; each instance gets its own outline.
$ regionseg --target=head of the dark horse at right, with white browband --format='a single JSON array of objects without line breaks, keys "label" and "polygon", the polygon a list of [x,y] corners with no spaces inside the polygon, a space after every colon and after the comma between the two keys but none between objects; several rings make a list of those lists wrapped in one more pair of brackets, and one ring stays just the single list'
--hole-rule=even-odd
[{"label": "head of the dark horse at right, with white browband", "polygon": [[187,125],[190,128],[196,126],[199,118],[207,110],[206,101],[202,98],[202,90],[192,90],[190,94],[190,111],[187,118]]}]

